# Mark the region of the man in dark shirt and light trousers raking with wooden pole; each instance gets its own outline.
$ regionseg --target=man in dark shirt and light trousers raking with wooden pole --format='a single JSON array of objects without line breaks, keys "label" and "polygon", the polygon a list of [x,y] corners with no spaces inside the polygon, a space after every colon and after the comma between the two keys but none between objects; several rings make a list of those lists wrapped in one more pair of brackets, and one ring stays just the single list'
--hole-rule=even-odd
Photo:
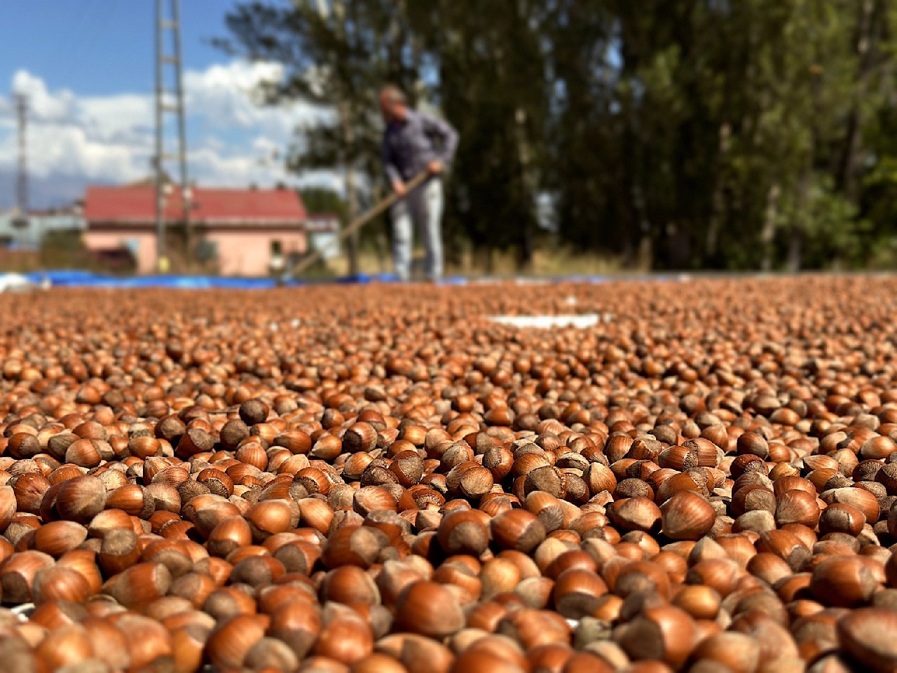
[{"label": "man in dark shirt and light trousers raking with wooden pole", "polygon": [[394,86],[380,92],[380,111],[387,123],[382,158],[393,191],[404,196],[405,183],[423,172],[421,186],[393,205],[393,262],[403,281],[411,275],[411,249],[416,224],[427,251],[426,274],[442,275],[442,181],[439,176],[455,155],[457,131],[445,121],[409,109],[405,95]]}]

